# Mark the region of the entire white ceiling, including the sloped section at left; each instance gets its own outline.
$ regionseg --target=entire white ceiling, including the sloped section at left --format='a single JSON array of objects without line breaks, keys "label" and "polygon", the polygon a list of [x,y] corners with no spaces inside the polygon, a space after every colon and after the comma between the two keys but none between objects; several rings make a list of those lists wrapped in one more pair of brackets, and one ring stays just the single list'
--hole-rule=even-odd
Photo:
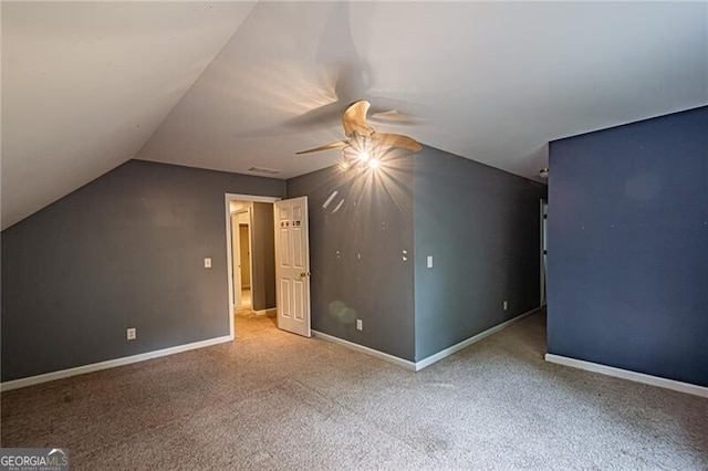
[{"label": "entire white ceiling, including the sloped section at left", "polygon": [[708,2],[2,3],[2,228],[133,158],[289,178],[346,105],[529,178],[549,140],[708,104]]}]

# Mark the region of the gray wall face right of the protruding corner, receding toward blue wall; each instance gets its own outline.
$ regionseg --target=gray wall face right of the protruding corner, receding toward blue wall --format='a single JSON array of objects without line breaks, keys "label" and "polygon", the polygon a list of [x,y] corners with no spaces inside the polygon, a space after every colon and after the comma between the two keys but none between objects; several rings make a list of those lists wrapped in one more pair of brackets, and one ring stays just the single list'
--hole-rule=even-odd
[{"label": "gray wall face right of the protruding corner, receding toward blue wall", "polygon": [[546,187],[430,147],[414,161],[420,360],[540,306]]}]

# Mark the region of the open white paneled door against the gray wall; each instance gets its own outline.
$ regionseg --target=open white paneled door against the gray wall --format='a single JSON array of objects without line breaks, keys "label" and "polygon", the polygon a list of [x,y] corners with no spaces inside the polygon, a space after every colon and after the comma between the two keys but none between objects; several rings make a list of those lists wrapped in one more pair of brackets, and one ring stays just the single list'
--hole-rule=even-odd
[{"label": "open white paneled door against the gray wall", "polygon": [[310,337],[308,197],[274,203],[278,327]]}]

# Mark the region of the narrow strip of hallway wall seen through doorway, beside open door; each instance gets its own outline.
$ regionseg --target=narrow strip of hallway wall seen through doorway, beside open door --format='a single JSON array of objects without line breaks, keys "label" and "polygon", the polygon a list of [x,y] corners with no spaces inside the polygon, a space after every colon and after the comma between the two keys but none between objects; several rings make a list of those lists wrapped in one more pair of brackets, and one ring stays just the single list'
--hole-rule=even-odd
[{"label": "narrow strip of hallway wall seen through doorway, beside open door", "polygon": [[275,307],[275,231],[273,229],[273,205],[253,202],[253,227],[251,228],[253,253],[253,280],[251,282],[254,311]]}]

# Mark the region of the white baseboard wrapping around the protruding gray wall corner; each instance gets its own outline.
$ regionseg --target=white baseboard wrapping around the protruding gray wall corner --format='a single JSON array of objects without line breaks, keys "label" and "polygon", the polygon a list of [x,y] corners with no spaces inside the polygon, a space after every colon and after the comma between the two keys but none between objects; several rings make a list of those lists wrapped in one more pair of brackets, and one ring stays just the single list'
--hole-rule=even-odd
[{"label": "white baseboard wrapping around the protruding gray wall corner", "polygon": [[449,348],[446,348],[446,349],[440,350],[440,352],[438,352],[438,353],[436,353],[434,355],[430,355],[429,357],[424,358],[424,359],[421,359],[420,362],[417,362],[417,363],[409,362],[407,359],[403,359],[403,358],[399,358],[397,356],[389,355],[387,353],[383,353],[383,352],[376,350],[374,348],[365,347],[364,345],[355,344],[353,342],[345,341],[343,338],[335,337],[333,335],[324,334],[322,332],[312,331],[312,333],[316,337],[320,337],[320,338],[322,338],[324,341],[329,341],[329,342],[342,345],[342,346],[344,346],[346,348],[350,348],[350,349],[353,349],[353,350],[356,350],[356,352],[360,352],[360,353],[376,357],[378,359],[383,359],[384,362],[393,363],[394,365],[398,365],[400,367],[404,367],[406,369],[410,369],[413,371],[419,371],[420,369],[425,368],[426,366],[430,366],[434,363],[439,362],[442,358],[446,358],[446,357],[448,357],[448,356],[461,350],[462,348],[467,348],[470,345],[472,345],[473,343],[477,343],[477,342],[481,341],[482,338],[485,338],[485,337],[487,337],[487,336],[489,336],[491,334],[494,334],[494,333],[501,331],[502,328],[506,328],[506,327],[510,326],[511,324],[513,324],[516,322],[521,321],[522,318],[533,314],[538,310],[539,308],[537,307],[537,308],[533,308],[533,310],[531,310],[531,311],[529,311],[527,313],[518,315],[514,318],[511,318],[511,320],[506,321],[506,322],[503,322],[503,323],[501,323],[499,325],[496,325],[496,326],[493,326],[491,328],[488,328],[485,332],[481,332],[481,333],[479,333],[479,334],[477,334],[477,335],[475,335],[472,337],[469,337],[469,338],[467,338],[467,339],[465,339],[465,341],[462,341],[462,342],[460,342],[458,344],[452,345]]}]

